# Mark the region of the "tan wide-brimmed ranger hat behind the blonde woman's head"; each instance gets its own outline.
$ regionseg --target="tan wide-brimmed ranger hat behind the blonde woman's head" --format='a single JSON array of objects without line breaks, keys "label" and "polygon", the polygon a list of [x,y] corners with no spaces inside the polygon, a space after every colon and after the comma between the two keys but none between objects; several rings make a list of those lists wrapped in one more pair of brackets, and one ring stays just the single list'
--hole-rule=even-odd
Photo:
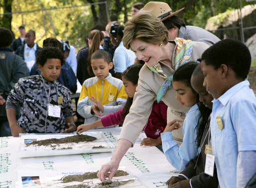
[{"label": "tan wide-brimmed ranger hat behind the blonde woman's head", "polygon": [[166,2],[160,2],[160,1],[150,1],[145,4],[142,11],[149,11],[152,14],[154,14],[156,17],[160,18],[161,21],[167,19],[168,17],[171,17],[177,13],[179,13],[184,8],[181,8],[177,10],[176,12],[173,12],[173,10],[170,8],[170,6]]}]

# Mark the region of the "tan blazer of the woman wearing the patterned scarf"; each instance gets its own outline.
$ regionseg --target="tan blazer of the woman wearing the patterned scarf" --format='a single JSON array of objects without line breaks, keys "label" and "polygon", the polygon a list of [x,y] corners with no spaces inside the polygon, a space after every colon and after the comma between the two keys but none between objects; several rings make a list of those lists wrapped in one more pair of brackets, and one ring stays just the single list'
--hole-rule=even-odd
[{"label": "tan blazer of the woman wearing the patterned scarf", "polygon": [[[174,41],[170,41],[174,42]],[[208,44],[203,42],[193,42],[193,50],[191,55],[191,61],[196,61],[201,58],[202,53],[209,47]],[[175,46],[176,49],[176,46]],[[175,51],[173,52],[172,62],[174,67]],[[160,62],[163,71],[168,75],[173,75],[174,70],[163,62]],[[156,94],[162,86],[164,79],[157,74],[150,71],[146,65],[144,65],[139,72],[138,86],[133,97],[133,102],[130,107],[129,114],[126,116],[123,128],[120,134],[120,139],[126,139],[132,144],[135,143],[141,130],[147,122],[147,119],[151,113],[152,105],[156,100]],[[162,101],[171,108],[171,113],[179,119],[184,120],[185,112],[189,110],[182,106],[176,99],[176,91],[171,86],[171,89],[163,96]],[[167,114],[168,116],[168,114]],[[181,124],[182,126],[183,124]],[[178,129],[182,134],[182,128]],[[175,135],[173,136],[175,138]],[[183,134],[182,134],[183,138]],[[180,140],[180,136],[178,140]]]}]

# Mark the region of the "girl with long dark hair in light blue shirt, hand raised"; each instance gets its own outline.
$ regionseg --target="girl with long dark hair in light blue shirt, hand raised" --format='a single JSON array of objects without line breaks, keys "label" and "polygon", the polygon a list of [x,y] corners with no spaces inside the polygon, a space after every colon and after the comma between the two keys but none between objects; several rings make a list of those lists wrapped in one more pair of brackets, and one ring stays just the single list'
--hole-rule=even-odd
[{"label": "girl with long dark hair in light blue shirt, hand raised", "polygon": [[176,91],[176,99],[181,105],[191,107],[186,112],[186,118],[182,127],[184,135],[182,144],[178,146],[177,142],[173,140],[171,133],[174,128],[177,129],[179,127],[177,120],[169,122],[161,133],[163,152],[170,164],[178,170],[183,170],[186,164],[198,155],[200,150],[196,142],[197,125],[202,121],[197,104],[199,102],[199,95],[190,84],[191,75],[197,65],[195,62],[189,62],[179,67],[173,75],[172,87]]}]

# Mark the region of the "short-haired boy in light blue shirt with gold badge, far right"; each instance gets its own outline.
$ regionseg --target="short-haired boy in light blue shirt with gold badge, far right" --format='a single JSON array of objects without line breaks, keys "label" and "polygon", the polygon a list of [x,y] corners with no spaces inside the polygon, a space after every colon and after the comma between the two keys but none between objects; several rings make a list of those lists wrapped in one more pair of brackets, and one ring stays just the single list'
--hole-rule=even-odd
[{"label": "short-haired boy in light blue shirt with gold badge, far right", "polygon": [[202,55],[204,86],[213,100],[211,141],[220,187],[244,188],[256,172],[256,97],[247,80],[248,48],[225,39]]}]

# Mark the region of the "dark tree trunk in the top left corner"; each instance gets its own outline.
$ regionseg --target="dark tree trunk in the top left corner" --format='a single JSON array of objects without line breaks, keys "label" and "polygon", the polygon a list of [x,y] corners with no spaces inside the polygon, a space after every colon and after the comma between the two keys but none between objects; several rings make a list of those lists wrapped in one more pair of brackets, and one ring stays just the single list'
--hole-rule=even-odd
[{"label": "dark tree trunk in the top left corner", "polygon": [[[3,0],[3,13],[11,12],[12,0]],[[4,14],[1,17],[1,27],[5,27],[11,31],[11,14]],[[12,31],[11,31],[12,32]]]}]

